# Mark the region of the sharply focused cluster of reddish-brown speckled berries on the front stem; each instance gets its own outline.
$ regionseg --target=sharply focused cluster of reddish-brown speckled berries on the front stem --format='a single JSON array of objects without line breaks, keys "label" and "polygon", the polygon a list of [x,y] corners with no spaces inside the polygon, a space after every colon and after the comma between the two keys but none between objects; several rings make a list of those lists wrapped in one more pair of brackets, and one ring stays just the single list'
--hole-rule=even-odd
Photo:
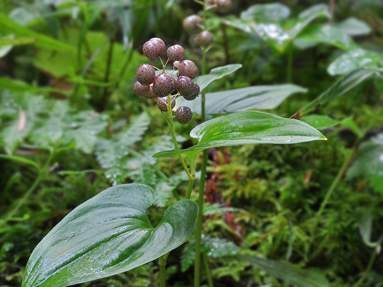
[{"label": "sharply focused cluster of reddish-brown speckled berries on the front stem", "polygon": [[[142,51],[149,59],[155,59],[165,51],[165,42],[159,38],[152,38],[144,44]],[[193,81],[198,74],[195,63],[190,60],[179,62],[185,56],[184,48],[180,45],[173,45],[168,48],[166,55],[168,61],[163,64],[163,72],[157,76],[154,66],[140,65],[136,72],[137,82],[133,87],[134,93],[139,97],[157,98],[157,106],[163,112],[168,111],[168,95],[174,90],[177,90],[178,93],[171,96],[170,108],[175,106],[175,97],[182,96],[185,100],[192,101],[198,97],[200,92],[198,84]],[[177,80],[165,73],[165,66],[169,61],[174,61],[173,72],[177,71]],[[178,123],[190,123],[192,118],[193,113],[188,106],[180,106],[175,111],[175,119]]]}]

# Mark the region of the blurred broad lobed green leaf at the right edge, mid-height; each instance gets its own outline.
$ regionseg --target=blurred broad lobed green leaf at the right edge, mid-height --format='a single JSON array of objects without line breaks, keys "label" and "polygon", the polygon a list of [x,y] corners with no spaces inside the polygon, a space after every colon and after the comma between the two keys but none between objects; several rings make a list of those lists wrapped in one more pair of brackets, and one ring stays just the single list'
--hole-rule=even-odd
[{"label": "blurred broad lobed green leaf at the right edge, mid-height", "polygon": [[346,179],[364,176],[369,184],[383,194],[383,135],[361,143],[359,153],[347,170]]}]

